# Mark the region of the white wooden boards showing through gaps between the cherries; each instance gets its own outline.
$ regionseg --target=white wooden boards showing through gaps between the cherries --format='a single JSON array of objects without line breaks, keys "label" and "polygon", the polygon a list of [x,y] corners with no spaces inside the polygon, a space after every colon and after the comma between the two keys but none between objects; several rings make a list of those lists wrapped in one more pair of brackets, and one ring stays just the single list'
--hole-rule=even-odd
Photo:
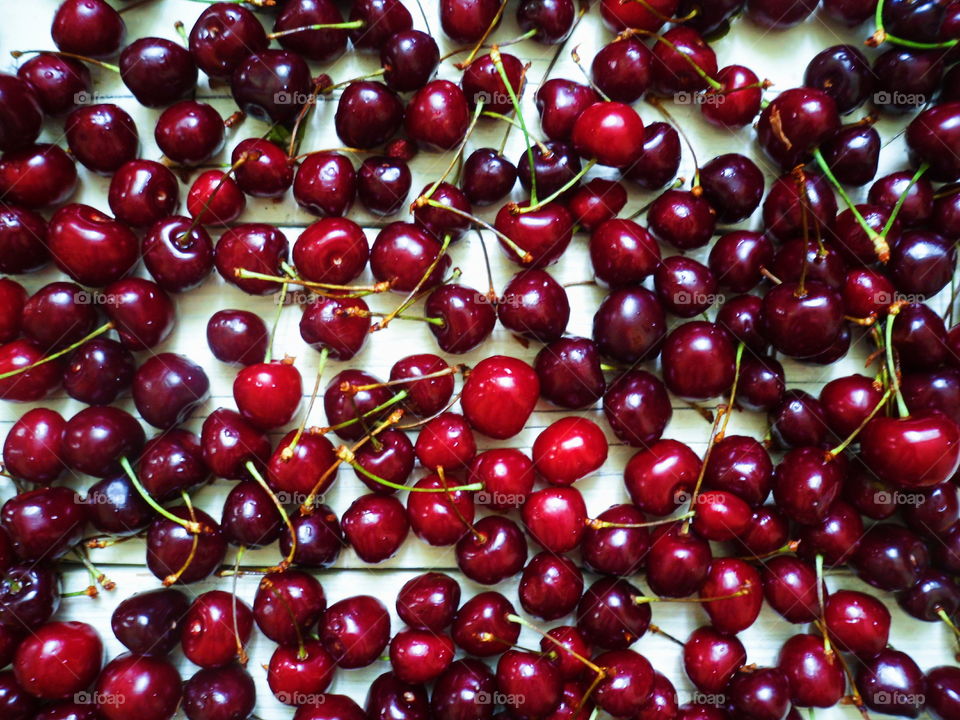
[{"label": "white wooden boards showing through gaps between the cherries", "polygon": [[[441,53],[443,53],[453,46],[441,37],[435,4],[430,0],[423,1],[422,13],[413,4],[414,0],[408,0],[408,7],[412,11],[416,27],[428,30],[437,37],[440,42]],[[11,50],[53,48],[49,37],[49,25],[57,6],[57,0],[30,0],[29,2],[5,0],[2,6],[0,70],[13,71],[15,69],[16,61],[11,59],[9,55]],[[144,35],[159,35],[178,40],[174,29],[175,21],[183,21],[189,30],[193,20],[204,7],[205,5],[202,3],[187,0],[155,0],[151,4],[133,9],[125,13],[129,29],[128,40]],[[495,36],[499,40],[506,40],[519,35],[513,20],[513,9],[514,4],[511,3],[504,22]],[[265,22],[272,23],[269,15],[263,17]],[[820,49],[839,42],[858,44],[868,35],[867,28],[861,28],[859,31],[850,33],[835,26],[826,25],[818,18],[812,19],[799,28],[780,34],[766,34],[745,21],[738,21],[735,23],[733,31],[717,41],[714,47],[718,53],[721,66],[731,63],[745,64],[752,67],[761,77],[773,81],[774,85],[768,91],[768,97],[772,97],[780,89],[800,84],[807,60]],[[581,46],[581,56],[589,61],[596,49],[609,39],[610,34],[601,26],[595,9],[576,29],[573,38],[567,45],[567,49],[561,53],[551,76],[580,79],[580,71],[570,61],[569,49],[577,45]],[[531,121],[530,124],[536,127],[536,112],[533,107],[532,96],[542,81],[547,65],[554,56],[556,49],[525,42],[522,45],[511,47],[509,51],[518,55],[524,61],[532,63],[528,74],[530,84],[524,98],[524,107],[526,116]],[[370,72],[377,67],[376,57],[350,52],[336,63],[325,67],[324,71],[339,82]],[[143,157],[159,159],[160,153],[153,141],[153,125],[157,112],[139,106],[129,96],[118,76],[97,68],[94,68],[92,72],[97,97],[103,102],[115,102],[121,105],[137,121],[142,140]],[[457,80],[458,77],[458,71],[449,63],[444,64],[440,74],[452,80]],[[235,110],[229,89],[223,86],[210,87],[205,80],[201,80],[198,98],[211,102],[224,117]],[[641,103],[638,108],[647,121],[661,119],[658,117],[656,110],[648,105]],[[341,144],[333,131],[332,121],[335,110],[335,99],[318,106],[317,111],[311,117],[302,151],[336,147]],[[761,163],[761,167],[764,167],[768,172],[768,175],[775,172],[768,162],[764,161],[762,157],[757,157],[751,128],[746,128],[740,132],[717,130],[708,126],[699,117],[697,109],[690,106],[671,106],[671,112],[691,137],[700,163],[705,163],[718,154],[736,151],[755,157]],[[855,115],[854,117],[859,116]],[[893,123],[886,121],[880,123],[879,128],[885,142],[890,142],[892,138],[895,138],[902,122],[901,120]],[[246,137],[259,136],[264,130],[265,126],[262,124],[247,120],[241,126],[228,131],[227,147],[222,158],[218,161],[223,162],[229,156],[230,149],[237,142]],[[504,126],[497,124],[495,121],[484,121],[475,134],[471,145],[473,147],[497,146],[503,130]],[[60,121],[52,120],[47,123],[44,138],[65,146]],[[508,148],[508,154],[511,157],[519,157],[522,144],[521,135],[518,131],[511,133]],[[446,162],[447,160],[442,156],[422,153],[413,164],[415,171],[413,192],[416,192],[426,182],[434,179],[446,165]],[[902,145],[898,141],[893,141],[884,150],[881,173],[901,169],[904,162],[905,156]],[[689,178],[693,167],[693,158],[685,149],[680,174]],[[187,187],[187,185],[182,186],[182,195],[185,195]],[[81,187],[75,200],[109,212],[106,203],[106,188],[107,180],[90,175],[81,169]],[[649,193],[631,192],[630,203],[624,210],[624,215],[630,214],[634,209],[649,202],[653,197]],[[857,194],[854,193],[854,196],[857,197]],[[492,220],[490,211],[481,214]],[[369,231],[371,241],[376,233],[375,226],[383,224],[383,220],[376,220],[357,209],[353,211],[351,217],[361,224],[371,227]],[[402,218],[401,215],[398,219]],[[240,221],[257,220],[274,223],[283,228],[292,244],[298,233],[312,219],[296,206],[288,193],[282,202],[248,200],[246,212]],[[754,217],[744,223],[743,226],[756,227],[758,224],[759,219]],[[566,255],[550,269],[561,282],[577,282],[591,278],[592,273],[589,258],[585,252],[585,241],[586,238],[582,235],[576,237]],[[502,289],[517,268],[499,253],[495,242],[488,242],[488,245],[492,251],[491,257],[498,289]],[[468,234],[462,242],[454,247],[452,255],[455,266],[463,270],[463,282],[484,289],[486,273],[475,235]],[[24,282],[28,289],[33,290],[54,279],[59,279],[59,277],[56,272],[47,271],[18,279]],[[362,280],[363,278],[361,278]],[[603,290],[595,286],[578,285],[571,287],[569,294],[572,317],[568,331],[573,334],[589,336],[592,315],[603,297]],[[374,309],[389,309],[396,301],[397,297],[395,296],[374,298],[371,305]],[[218,276],[214,275],[201,288],[179,297],[177,306],[178,326],[176,331],[171,339],[157,350],[184,353],[201,363],[210,376],[212,396],[203,407],[198,409],[188,423],[192,429],[199,430],[203,418],[210,411],[221,405],[232,407],[231,385],[235,373],[233,368],[219,363],[210,354],[204,341],[204,328],[207,318],[217,309],[233,307],[258,312],[269,322],[275,305],[271,298],[246,296],[232,286],[225,285]],[[301,341],[297,330],[298,320],[299,312],[297,309],[286,308],[284,310],[275,352],[278,355],[286,353],[296,356],[297,365],[305,379],[304,384],[309,386],[312,385],[311,379],[318,356]],[[525,347],[504,328],[498,326],[493,336],[478,351],[459,357],[457,360],[474,364],[482,357],[494,353],[516,355],[532,360],[537,349],[536,343]],[[851,355],[843,363],[831,368],[785,362],[788,384],[790,387],[799,387],[811,393],[816,393],[819,387],[833,375],[845,374],[862,368],[863,359],[869,349],[868,339],[857,338]],[[389,331],[373,336],[364,351],[352,361],[351,365],[363,367],[375,375],[385,377],[389,372],[390,365],[397,358],[414,351],[436,351],[435,342],[428,329],[420,323],[396,322]],[[328,377],[340,369],[342,369],[341,364],[331,363],[327,370]],[[41,404],[56,407],[67,417],[81,409],[80,403],[65,397],[62,392],[48,398]],[[133,410],[129,398],[124,398],[120,404]],[[29,407],[31,406],[0,405],[0,436],[5,435],[10,425]],[[528,429],[519,437],[511,440],[510,444],[529,450],[539,429],[563,414],[563,411],[557,408],[541,404],[534,413]],[[584,411],[583,414],[594,417],[606,429],[602,413],[598,408]],[[310,418],[310,421],[311,424],[325,424],[321,403],[317,404],[314,416]],[[761,437],[765,430],[766,419],[759,415],[738,414],[733,418],[731,424],[731,432],[746,432],[757,437]],[[708,434],[708,424],[695,411],[682,402],[675,403],[673,420],[667,428],[666,437],[683,440],[698,452],[702,452]],[[623,488],[622,470],[624,463],[632,453],[629,448],[625,448],[617,442],[612,434],[610,438],[611,452],[604,467],[594,476],[578,483],[578,487],[586,497],[592,515],[596,515],[613,503],[627,499]],[[481,448],[495,445],[495,443],[483,438],[478,439]],[[69,482],[77,488],[83,488],[89,485],[91,480],[77,477],[72,478]],[[222,500],[228,490],[228,483],[219,481],[197,494],[197,505],[208,510],[214,517],[219,517]],[[354,497],[364,491],[364,486],[355,478],[352,471],[341,470],[338,481],[325,497],[325,501],[340,514],[349,506]],[[12,492],[12,488],[9,484],[0,484],[0,493],[3,494],[3,497],[6,497],[10,492]],[[532,551],[535,552],[536,550],[532,548]],[[261,565],[271,562],[276,555],[277,550],[274,547],[267,551],[248,554],[245,562],[252,565]],[[95,623],[101,629],[108,653],[112,656],[122,650],[109,630],[109,618],[113,608],[121,599],[134,592],[157,587],[158,581],[144,567],[143,546],[139,541],[124,543],[113,549],[95,551],[94,559],[105,566],[109,566],[107,569],[110,576],[118,583],[117,590],[111,593],[103,593],[96,600],[87,598],[66,600],[60,616]],[[453,569],[452,572],[456,573],[452,548],[430,548],[411,535],[396,557],[379,566],[366,566],[356,558],[352,551],[345,550],[335,568],[318,575],[331,602],[352,594],[370,593],[381,598],[393,612],[393,600],[396,592],[407,579],[426,569],[449,570],[451,568]],[[461,578],[461,581],[465,597],[483,589],[463,578]],[[632,581],[641,587],[644,586],[642,577],[632,578]],[[84,572],[73,569],[67,573],[66,585],[68,589],[79,589],[86,583],[87,577]],[[248,602],[252,602],[256,583],[256,577],[241,579],[238,583],[240,596]],[[832,588],[862,586],[859,581],[843,572],[831,573],[829,584]],[[186,591],[198,594],[215,586],[229,589],[229,582],[221,580],[201,583],[187,587]],[[515,582],[506,583],[497,589],[519,607]],[[925,669],[951,661],[955,647],[944,628],[937,624],[925,624],[910,620],[896,607],[892,598],[885,599],[890,603],[895,618],[892,634],[892,644],[894,646],[909,652]],[[654,621],[675,636],[684,638],[690,630],[706,621],[706,615],[695,606],[657,604],[654,607]],[[401,627],[396,616],[393,617],[393,622],[394,630]],[[556,624],[561,624],[561,622]],[[803,631],[802,627],[788,625],[778,615],[765,608],[758,622],[743,633],[743,641],[748,649],[749,661],[759,664],[775,662],[783,640],[800,631]],[[521,638],[521,643],[532,646],[536,644],[536,639],[525,632]],[[687,702],[692,698],[693,689],[683,674],[677,647],[661,638],[648,635],[637,643],[636,648],[646,653],[658,669],[671,677],[677,686],[681,702]],[[257,680],[260,691],[257,714],[267,720],[287,718],[292,714],[289,708],[274,701],[266,687],[265,671],[261,666],[269,660],[272,649],[272,642],[262,636],[256,636],[250,648],[252,661],[249,669]],[[184,678],[189,677],[195,668],[179,654],[176,658],[181,665]],[[341,671],[334,681],[331,691],[346,693],[362,703],[371,680],[387,669],[389,669],[388,663],[377,662],[372,667],[363,670]],[[857,716],[857,713],[849,707],[838,707],[828,711],[817,711],[816,713],[817,718],[823,719]]]}]

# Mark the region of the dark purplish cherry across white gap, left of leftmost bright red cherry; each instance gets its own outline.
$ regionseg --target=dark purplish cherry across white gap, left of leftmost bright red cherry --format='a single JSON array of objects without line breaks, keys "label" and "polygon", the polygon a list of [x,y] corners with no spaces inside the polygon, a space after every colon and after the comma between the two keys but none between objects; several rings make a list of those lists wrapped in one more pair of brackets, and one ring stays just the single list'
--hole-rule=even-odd
[{"label": "dark purplish cherry across white gap, left of leftmost bright red cherry", "polygon": [[141,417],[163,429],[179,425],[210,394],[203,368],[185,355],[160,353],[139,368],[133,378],[133,401]]}]

